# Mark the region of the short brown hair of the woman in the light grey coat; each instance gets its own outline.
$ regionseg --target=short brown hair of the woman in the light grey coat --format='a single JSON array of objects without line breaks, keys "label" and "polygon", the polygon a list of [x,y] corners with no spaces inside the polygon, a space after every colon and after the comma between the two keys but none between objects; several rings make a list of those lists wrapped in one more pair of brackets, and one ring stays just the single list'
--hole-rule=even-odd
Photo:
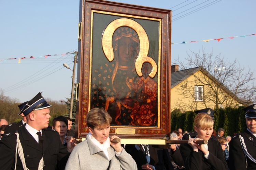
[{"label": "short brown hair of the woman in the light grey coat", "polygon": [[112,118],[108,114],[107,111],[105,111],[104,108],[93,108],[91,109],[87,116],[86,116],[87,126],[94,129],[95,127],[104,127],[109,126]]}]

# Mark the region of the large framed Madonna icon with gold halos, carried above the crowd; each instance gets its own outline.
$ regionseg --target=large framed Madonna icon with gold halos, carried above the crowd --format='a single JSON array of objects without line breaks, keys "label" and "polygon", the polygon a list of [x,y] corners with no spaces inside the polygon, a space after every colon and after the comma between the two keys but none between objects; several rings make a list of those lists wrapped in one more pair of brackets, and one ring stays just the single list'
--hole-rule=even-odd
[{"label": "large framed Madonna icon with gold halos, carried above the crowd", "polygon": [[171,11],[80,2],[76,135],[95,107],[112,117],[110,135],[160,139],[170,133]]}]

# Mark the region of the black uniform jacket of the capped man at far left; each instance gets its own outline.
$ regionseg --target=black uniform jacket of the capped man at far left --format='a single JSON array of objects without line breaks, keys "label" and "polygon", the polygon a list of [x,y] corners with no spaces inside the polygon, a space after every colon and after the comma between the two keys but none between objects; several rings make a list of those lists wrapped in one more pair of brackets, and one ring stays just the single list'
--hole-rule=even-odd
[{"label": "black uniform jacket of the capped man at far left", "polygon": [[[38,170],[38,165],[43,157],[44,169],[55,170],[57,160],[62,168],[65,168],[69,153],[60,141],[59,133],[52,129],[42,129],[43,149],[33,136],[27,131],[25,125],[22,129],[16,131],[19,133],[20,143],[23,147],[26,166],[30,170]],[[2,170],[10,170],[15,167],[16,154],[15,132],[6,134],[0,140],[0,165]],[[59,166],[60,167],[60,166]],[[22,162],[17,152],[16,169],[23,169]]]}]

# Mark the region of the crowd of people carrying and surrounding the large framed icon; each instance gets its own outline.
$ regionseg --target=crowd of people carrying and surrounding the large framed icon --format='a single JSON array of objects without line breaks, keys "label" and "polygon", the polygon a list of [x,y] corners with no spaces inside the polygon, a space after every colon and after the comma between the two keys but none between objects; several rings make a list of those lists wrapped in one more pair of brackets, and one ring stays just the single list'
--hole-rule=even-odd
[{"label": "crowd of people carrying and surrounding the large framed icon", "polygon": [[[51,105],[41,93],[18,105],[18,123],[0,119],[1,169],[148,169],[148,170],[236,170],[256,169],[256,104],[244,108],[247,129],[224,136],[214,135],[214,111],[196,111],[193,132],[179,128],[170,140],[185,143],[156,148],[147,143],[121,145],[118,136],[109,136],[112,117],[104,108],[93,108],[87,116],[89,133],[84,141],[73,138],[69,117],[58,116],[49,126]],[[119,142],[118,142],[119,141]],[[205,143],[205,141],[207,141]],[[179,143],[179,142],[178,142]]]}]

